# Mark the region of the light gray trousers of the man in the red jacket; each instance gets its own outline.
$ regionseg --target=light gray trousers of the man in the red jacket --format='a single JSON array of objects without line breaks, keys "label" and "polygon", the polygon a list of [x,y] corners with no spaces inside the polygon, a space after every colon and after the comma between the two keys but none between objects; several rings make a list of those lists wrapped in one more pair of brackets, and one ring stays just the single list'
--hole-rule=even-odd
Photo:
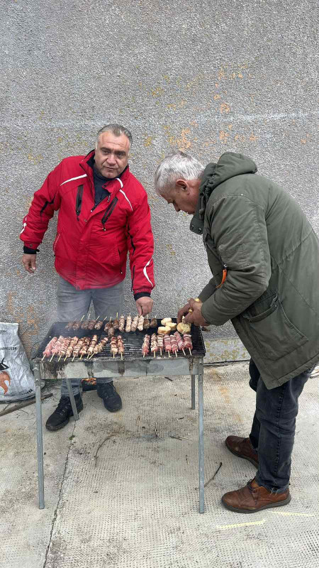
[{"label": "light gray trousers of the man in the red jacket", "polygon": [[[93,302],[95,317],[103,320],[104,317],[120,317],[123,310],[123,282],[111,288],[91,288],[89,290],[76,290],[72,284],[60,276],[57,287],[57,320],[59,322],[72,322],[81,320],[87,314]],[[91,320],[94,320],[91,314]],[[82,378],[72,378],[72,391],[79,394]],[[112,378],[97,378],[96,383],[110,383]],[[61,396],[69,396],[66,381],[62,381]]]}]

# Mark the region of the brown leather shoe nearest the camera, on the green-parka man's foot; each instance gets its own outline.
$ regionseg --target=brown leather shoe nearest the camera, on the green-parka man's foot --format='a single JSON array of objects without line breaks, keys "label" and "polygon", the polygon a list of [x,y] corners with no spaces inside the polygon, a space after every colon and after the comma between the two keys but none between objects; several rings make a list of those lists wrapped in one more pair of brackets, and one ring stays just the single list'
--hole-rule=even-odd
[{"label": "brown leather shoe nearest the camera, on the green-parka man's foot", "polygon": [[237,491],[225,493],[222,503],[226,509],[235,510],[236,513],[257,513],[258,510],[269,507],[281,507],[291,501],[289,489],[284,493],[272,493],[265,487],[257,485],[252,479],[245,487]]}]

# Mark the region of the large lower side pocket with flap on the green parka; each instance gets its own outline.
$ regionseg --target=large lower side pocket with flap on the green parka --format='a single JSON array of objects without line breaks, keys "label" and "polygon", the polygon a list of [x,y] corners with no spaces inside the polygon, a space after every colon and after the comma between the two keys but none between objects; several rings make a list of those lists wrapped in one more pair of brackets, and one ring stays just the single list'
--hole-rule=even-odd
[{"label": "large lower side pocket with flap on the green parka", "polygon": [[261,350],[264,359],[276,361],[304,343],[308,337],[286,316],[278,295],[274,295],[267,310],[252,316],[250,309],[242,313],[250,329],[250,339]]}]

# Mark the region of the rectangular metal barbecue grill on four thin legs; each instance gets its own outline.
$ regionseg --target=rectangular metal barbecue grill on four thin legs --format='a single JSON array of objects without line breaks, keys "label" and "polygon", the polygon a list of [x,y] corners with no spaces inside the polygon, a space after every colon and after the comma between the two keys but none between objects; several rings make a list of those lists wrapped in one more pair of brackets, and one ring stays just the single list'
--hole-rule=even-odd
[{"label": "rectangular metal barbecue grill on four thin legs", "polygon": [[[157,320],[160,325],[161,320]],[[176,320],[173,320],[176,322]],[[191,375],[191,409],[195,409],[195,377],[198,376],[198,458],[199,458],[199,512],[204,512],[204,468],[203,468],[203,356],[205,355],[205,345],[201,329],[194,325],[191,326],[191,341],[193,349],[177,351],[177,356],[159,351],[154,354],[142,356],[142,343],[145,334],[152,335],[157,333],[156,328],[144,329],[142,332],[120,332],[116,329],[115,335],[121,335],[124,344],[123,359],[120,355],[113,357],[110,351],[111,338],[104,346],[103,351],[94,354],[91,359],[83,356],[82,359],[72,357],[60,361],[59,355],[43,360],[43,351],[52,337],[92,337],[98,336],[100,341],[103,337],[108,337],[107,332],[102,329],[65,329],[67,322],[57,322],[52,324],[45,339],[41,343],[38,353],[33,359],[33,373],[35,376],[35,398],[37,412],[37,446],[38,446],[38,485],[39,485],[39,508],[43,509],[44,504],[44,476],[43,476],[43,426],[42,426],[42,407],[41,407],[41,380],[50,378],[66,379],[69,397],[72,404],[74,420],[79,419],[77,408],[72,393],[71,378],[91,378],[91,377],[139,377],[139,376],[177,376]]]}]

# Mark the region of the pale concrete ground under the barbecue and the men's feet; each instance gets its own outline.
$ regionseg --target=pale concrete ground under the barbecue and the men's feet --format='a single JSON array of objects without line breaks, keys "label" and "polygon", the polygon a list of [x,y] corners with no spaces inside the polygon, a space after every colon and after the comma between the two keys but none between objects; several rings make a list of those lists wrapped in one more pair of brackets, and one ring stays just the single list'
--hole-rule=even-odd
[{"label": "pale concrete ground under the barbecue and the men's feet", "polygon": [[[35,405],[1,417],[1,567],[318,566],[318,378],[300,399],[291,503],[253,515],[220,503],[225,491],[254,476],[254,466],[224,444],[227,435],[250,431],[254,393],[247,376],[246,363],[205,371],[206,480],[222,466],[206,488],[203,515],[198,411],[190,409],[188,377],[116,381],[123,410],[114,415],[96,391],[84,393],[77,423],[44,432],[44,510],[38,509]],[[43,420],[59,399],[57,384],[49,387],[54,396],[43,403]]]}]

